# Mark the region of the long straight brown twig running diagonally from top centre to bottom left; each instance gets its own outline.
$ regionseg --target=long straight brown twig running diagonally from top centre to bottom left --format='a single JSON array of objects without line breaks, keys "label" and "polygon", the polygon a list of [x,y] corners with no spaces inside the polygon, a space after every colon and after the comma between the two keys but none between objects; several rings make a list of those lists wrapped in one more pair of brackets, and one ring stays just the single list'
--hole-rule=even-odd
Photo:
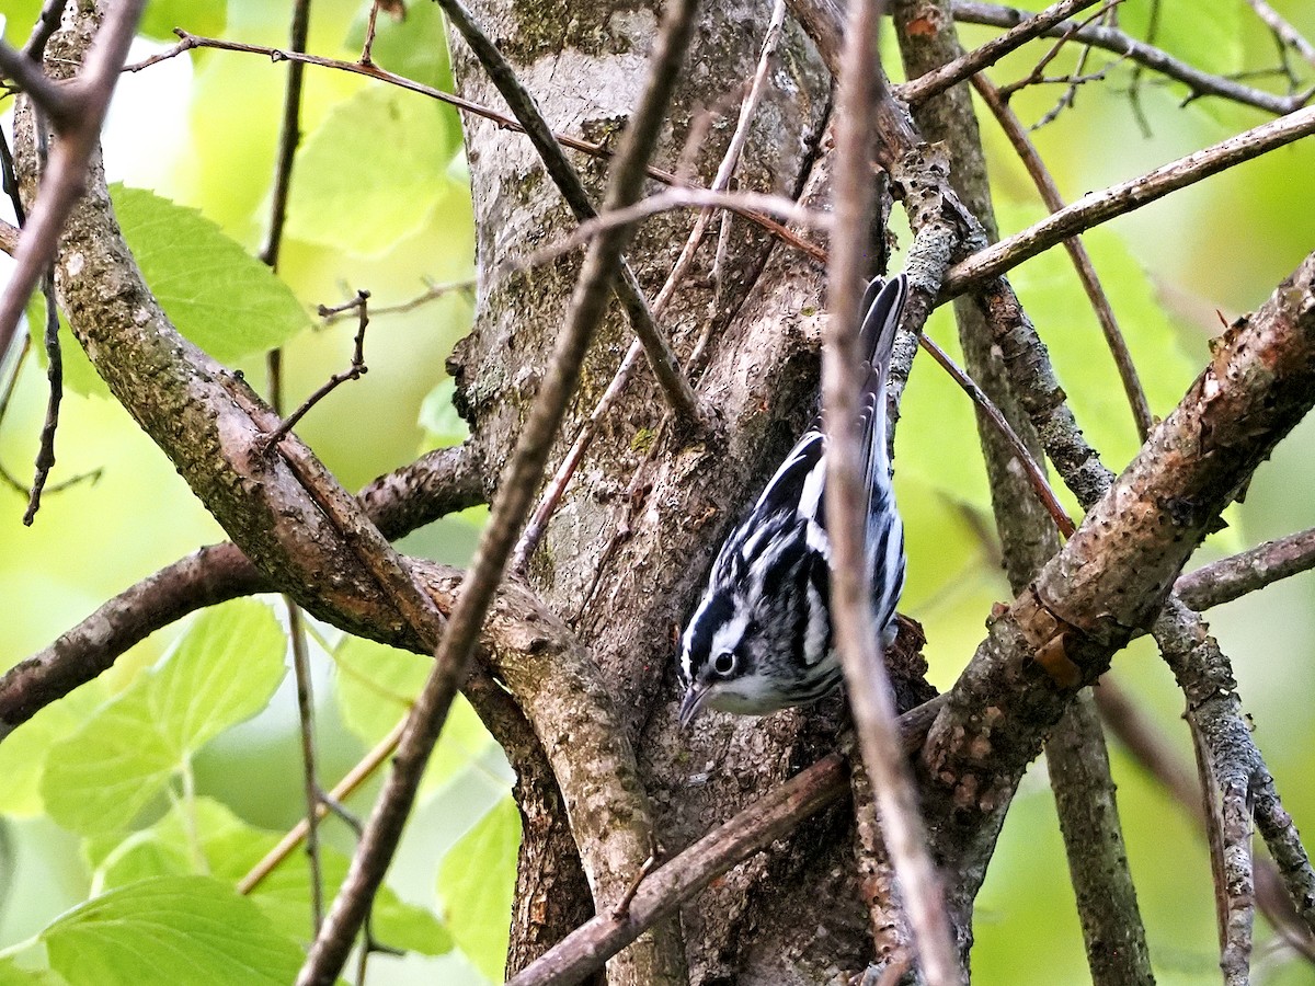
[{"label": "long straight brown twig running diagonally from top centre to bottom left", "polygon": [[[694,9],[693,0],[680,0],[668,7],[664,14],[648,83],[622,137],[610,174],[605,210],[625,208],[640,195],[644,166],[661,130],[667,103],[693,32]],[[608,230],[589,245],[565,326],[558,337],[552,362],[508,464],[489,522],[480,536],[471,573],[463,584],[460,599],[438,647],[434,670],[408,716],[406,730],[394,756],[394,769],[371,814],[342,890],[297,977],[299,986],[327,986],[334,982],[370,901],[383,881],[410,814],[421,772],[447,718],[452,698],[468,673],[485,613],[529,514],[554,434],[579,380],[585,348],[602,319],[629,234],[629,227]]]}]

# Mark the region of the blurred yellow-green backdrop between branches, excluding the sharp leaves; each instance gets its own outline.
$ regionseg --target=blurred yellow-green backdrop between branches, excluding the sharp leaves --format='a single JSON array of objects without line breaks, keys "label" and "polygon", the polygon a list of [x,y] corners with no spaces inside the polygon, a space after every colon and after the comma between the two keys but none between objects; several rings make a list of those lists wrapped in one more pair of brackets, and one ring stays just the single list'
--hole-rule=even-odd
[{"label": "blurred yellow-green backdrop between branches, excluding the sharp leaves", "polygon": [[[1124,26],[1144,22],[1145,7],[1144,0],[1123,4]],[[1307,35],[1315,34],[1315,8],[1306,0],[1274,7]],[[7,38],[21,41],[38,8],[36,0],[7,0]],[[418,0],[409,8],[405,22],[380,18],[376,62],[427,84],[450,85],[437,8]],[[1161,8],[1160,42],[1197,64],[1218,72],[1274,64],[1273,43],[1243,0],[1212,5],[1208,13],[1198,13],[1186,0]],[[358,0],[316,0],[310,50],[354,59],[367,9]],[[138,42],[133,59],[167,49],[175,24],[279,46],[285,43],[288,4],[266,0],[155,0],[146,24],[151,37]],[[764,8],[764,25],[765,20]],[[963,32],[968,45],[992,34]],[[993,78],[1007,82],[1026,74],[1036,51],[1011,57],[993,70]],[[1065,58],[1056,62],[1055,74],[1072,67]],[[898,59],[888,58],[888,64]],[[1311,75],[1307,70],[1307,80]],[[196,209],[256,252],[268,214],[284,78],[285,68],[267,58],[220,51],[192,53],[126,75],[105,135],[112,180]],[[1274,83],[1258,79],[1257,84]],[[1026,89],[1013,105],[1024,122],[1035,122],[1061,92],[1060,85]],[[1072,200],[1265,120],[1218,100],[1186,106],[1182,101],[1178,87],[1152,75],[1136,79],[1119,64],[1103,82],[1082,85],[1076,106],[1034,137]],[[302,120],[305,138],[279,267],[301,302],[306,326],[285,346],[289,402],[350,359],[354,325],[348,319],[313,326],[316,305],[338,304],[364,288],[373,306],[387,306],[417,297],[430,283],[473,276],[469,193],[460,121],[452,110],[312,67]],[[1001,229],[1009,233],[1041,210],[998,129],[986,116],[982,120]],[[1312,176],[1315,142],[1307,139],[1085,238],[1157,415],[1172,409],[1207,360],[1207,342],[1220,331],[1220,317],[1231,321],[1258,305],[1315,247]],[[907,234],[902,242],[907,246]],[[1111,468],[1122,467],[1136,450],[1132,418],[1066,259],[1052,251],[1014,271],[1011,280],[1052,348],[1084,430]],[[233,312],[238,314],[231,322],[239,322],[241,298],[233,298]],[[368,375],[338,389],[299,427],[345,485],[360,486],[421,451],[460,440],[443,359],[468,329],[471,314],[472,294],[456,291],[414,310],[373,318],[366,343]],[[243,326],[231,330],[231,344],[241,352]],[[947,313],[939,313],[928,331],[955,351]],[[242,352],[234,362],[262,384],[259,352]],[[24,497],[0,488],[0,667],[46,646],[113,593],[222,538],[171,465],[91,380],[89,368],[76,358],[71,363],[75,392],[64,402],[53,481],[93,471],[99,479],[47,493],[30,528],[20,523]],[[29,359],[0,427],[0,465],[20,480],[28,477],[36,451],[43,376],[39,363]],[[1245,504],[1228,511],[1228,528],[1211,538],[1197,561],[1315,523],[1312,461],[1315,425],[1307,423],[1257,473]],[[970,406],[930,362],[914,367],[896,463],[910,552],[902,609],[924,623],[932,677],[944,688],[980,640],[992,602],[1009,593],[995,547],[982,535],[989,530],[989,500]],[[444,519],[412,535],[405,547],[463,563],[481,517],[483,511],[471,511]],[[1315,824],[1312,596],[1315,578],[1303,576],[1210,614],[1235,661],[1256,738],[1285,805],[1307,828]],[[279,601],[267,602],[281,619]],[[49,766],[46,751],[74,735],[97,703],[128,688],[133,672],[163,656],[188,626],[156,634],[105,680],[72,697],[66,714],[34,720],[0,745],[0,949],[22,943],[84,899],[96,866],[103,865],[50,815],[42,794],[49,789],[41,781]],[[423,665],[343,642],[326,627],[314,627],[312,640],[322,768],[331,782],[387,732],[402,709],[400,697],[416,686]],[[368,674],[362,670],[367,665]],[[377,674],[384,677],[372,677]],[[1118,657],[1112,674],[1187,757],[1181,698],[1153,648],[1134,646]],[[380,981],[477,983],[494,977],[501,965],[501,915],[517,837],[506,799],[510,774],[468,711],[456,724],[444,739],[442,763],[427,782],[391,883],[402,899],[446,912],[458,947],[437,957],[379,957]],[[1184,812],[1116,744],[1111,756],[1157,978],[1215,982],[1203,843]],[[262,830],[292,824],[301,811],[301,781],[291,676],[266,711],[209,743],[192,768],[197,797],[213,798]],[[372,790],[364,791],[354,806],[366,810],[371,795]],[[166,807],[162,803],[156,814]],[[333,824],[327,831],[335,845],[350,849],[350,832]],[[444,895],[462,906],[444,911]],[[1080,982],[1088,975],[1044,763],[1034,766],[1011,809],[980,898],[977,939],[980,982]],[[1261,949],[1256,981],[1315,983],[1315,973]]]}]

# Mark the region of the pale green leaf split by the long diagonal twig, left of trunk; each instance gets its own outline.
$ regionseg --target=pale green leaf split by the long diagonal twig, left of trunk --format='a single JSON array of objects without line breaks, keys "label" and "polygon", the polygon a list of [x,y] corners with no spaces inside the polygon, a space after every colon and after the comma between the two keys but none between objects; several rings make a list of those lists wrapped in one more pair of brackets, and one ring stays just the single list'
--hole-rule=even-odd
[{"label": "pale green leaf split by the long diagonal twig, left of trunk", "polygon": [[[377,743],[408,713],[434,659],[372,640],[345,636],[334,651],[334,694],[342,720],[362,741]],[[497,769],[501,749],[479,715],[460,695],[443,723],[443,735],[425,768],[423,790],[442,787],[467,769]]]}]

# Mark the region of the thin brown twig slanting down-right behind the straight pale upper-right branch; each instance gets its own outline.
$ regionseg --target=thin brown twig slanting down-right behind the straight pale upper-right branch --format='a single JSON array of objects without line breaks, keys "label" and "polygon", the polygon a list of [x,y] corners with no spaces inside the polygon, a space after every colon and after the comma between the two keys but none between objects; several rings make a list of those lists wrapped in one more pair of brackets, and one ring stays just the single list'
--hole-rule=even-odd
[{"label": "thin brown twig slanting down-right behind the straight pale upper-right branch", "polygon": [[[1060,196],[1059,185],[1055,184],[1049,168],[1045,167],[1041,155],[1036,153],[1036,147],[1032,146],[1027,131],[1014,114],[1014,110],[1001,99],[999,92],[986,76],[973,76],[973,88],[977,89],[977,95],[982,97],[982,103],[994,114],[1010,143],[1014,145],[1014,151],[1023,162],[1023,167],[1027,168],[1027,174],[1032,177],[1032,183],[1036,185],[1041,201],[1045,202],[1045,208],[1052,213],[1063,209],[1064,200]],[[1151,405],[1147,402],[1145,390],[1141,388],[1136,364],[1132,362],[1132,354],[1128,352],[1127,340],[1124,340],[1123,333],[1119,331],[1119,323],[1114,318],[1110,298],[1106,296],[1105,288],[1101,287],[1101,280],[1095,273],[1095,264],[1091,263],[1091,255],[1086,252],[1082,241],[1078,237],[1070,237],[1064,241],[1064,248],[1068,251],[1069,259],[1072,259],[1073,267],[1077,270],[1078,280],[1082,283],[1084,291],[1086,291],[1086,297],[1091,302],[1091,310],[1095,312],[1095,318],[1105,333],[1105,342],[1114,356],[1114,365],[1118,367],[1119,379],[1123,381],[1123,393],[1128,398],[1128,406],[1132,409],[1132,419],[1136,422],[1137,439],[1145,442],[1147,435],[1151,434],[1151,427],[1155,425],[1155,419],[1151,415]]]}]

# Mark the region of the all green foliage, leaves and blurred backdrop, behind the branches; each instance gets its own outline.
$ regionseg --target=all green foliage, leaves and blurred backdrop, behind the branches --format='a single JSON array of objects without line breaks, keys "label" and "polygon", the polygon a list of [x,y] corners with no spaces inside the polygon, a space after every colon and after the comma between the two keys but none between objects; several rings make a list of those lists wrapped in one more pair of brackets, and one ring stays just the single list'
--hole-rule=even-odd
[{"label": "all green foliage, leaves and blurred backdrop, behind the branches", "polygon": [[[1044,7],[1040,0],[1024,5]],[[39,7],[39,0],[7,1],[5,39],[21,43]],[[1308,3],[1276,7],[1315,34]],[[1212,71],[1276,64],[1268,32],[1243,0],[1216,4],[1208,14],[1187,0],[1161,0],[1155,16],[1147,0],[1118,9],[1126,29],[1153,28],[1157,43]],[[167,46],[175,25],[280,46],[288,11],[288,3],[266,0],[153,0],[143,34],[155,41],[141,42],[133,57]],[[367,12],[364,0],[316,0],[310,49],[355,59]],[[976,45],[993,33],[965,28],[963,35]],[[1010,57],[993,78],[1024,75],[1039,50]],[[373,58],[427,85],[451,85],[442,22],[430,3],[416,0],[402,21],[381,14]],[[1094,55],[1088,71],[1112,64],[1109,78],[1080,85],[1076,106],[1034,133],[1069,200],[1264,120],[1211,99],[1182,106],[1182,87],[1115,60]],[[1048,74],[1074,67],[1076,54],[1065,50]],[[371,305],[383,308],[418,297],[429,283],[469,279],[473,220],[460,121],[451,109],[310,67],[287,239],[276,276],[266,271],[254,258],[267,235],[285,78],[287,64],[208,50],[125,75],[105,160],[121,183],[114,201],[125,233],[166,310],[256,387],[266,385],[264,348],[283,343],[284,401],[292,406],[350,358],[354,319],[313,326],[316,306],[368,289]],[[1261,78],[1257,84],[1278,83]],[[1028,88],[1011,105],[1034,124],[1063,91],[1057,84]],[[982,134],[1007,234],[1041,212],[1030,179],[985,116]],[[1084,238],[1156,414],[1173,408],[1207,360],[1220,314],[1231,321],[1260,304],[1312,248],[1312,174],[1315,146],[1304,141]],[[1086,434],[1107,465],[1122,468],[1137,446],[1132,418],[1066,259],[1051,251],[1011,280],[1052,350]],[[347,486],[422,450],[462,440],[443,358],[471,314],[469,296],[454,292],[372,318],[370,373],[337,390],[299,427]],[[39,325],[39,302],[32,317]],[[947,312],[928,331],[956,350]],[[92,380],[70,338],[64,350],[71,393],[53,479],[99,479],[47,492],[32,528],[18,523],[22,497],[0,492],[4,664],[49,644],[116,592],[222,538],[163,456]],[[0,463],[20,479],[43,401],[43,371],[29,360],[0,430]],[[976,448],[967,398],[919,359],[897,442],[910,550],[903,609],[927,628],[940,686],[953,681],[981,639],[992,603],[1009,596]],[[1308,526],[1306,492],[1312,488],[1315,426],[1304,425],[1260,471],[1247,502],[1230,511],[1230,528],[1210,540],[1202,559]],[[460,564],[483,515],[444,519],[404,546]],[[1308,772],[1315,722],[1304,701],[1315,692],[1312,594],[1308,577],[1295,578],[1211,614],[1285,803],[1307,828],[1315,818]],[[0,744],[0,835],[8,835],[0,839],[0,983],[288,981],[287,970],[297,964],[295,943],[304,943],[310,928],[305,857],[295,855],[252,901],[230,889],[304,810],[292,686],[276,622],[281,614],[274,601],[246,601],[160,631]],[[402,715],[427,661],[314,623],[312,652],[321,766],[331,784]],[[1157,714],[1186,759],[1181,698],[1153,648],[1144,642],[1130,648],[1112,674]],[[1215,982],[1202,843],[1137,765],[1116,745],[1111,752],[1159,981]],[[381,981],[497,978],[519,837],[509,781],[501,751],[469,707],[458,705],[376,911],[376,933],[414,954],[372,958]],[[1044,781],[1041,763],[1010,812],[980,898],[980,982],[1086,978]],[[367,786],[351,805],[366,810],[371,795]],[[325,836],[331,891],[351,835],[330,820]],[[82,903],[89,893],[103,895]],[[132,968],[130,956],[147,933],[142,919],[166,904],[172,920],[151,933],[185,939],[188,961],[203,978],[178,978],[176,965],[154,973]],[[217,924],[224,940],[214,952],[197,952],[199,936]],[[38,969],[41,947],[46,970]],[[231,965],[242,954],[267,957],[275,978],[242,978]],[[1315,982],[1308,968],[1277,960],[1260,962],[1261,977]]]}]

